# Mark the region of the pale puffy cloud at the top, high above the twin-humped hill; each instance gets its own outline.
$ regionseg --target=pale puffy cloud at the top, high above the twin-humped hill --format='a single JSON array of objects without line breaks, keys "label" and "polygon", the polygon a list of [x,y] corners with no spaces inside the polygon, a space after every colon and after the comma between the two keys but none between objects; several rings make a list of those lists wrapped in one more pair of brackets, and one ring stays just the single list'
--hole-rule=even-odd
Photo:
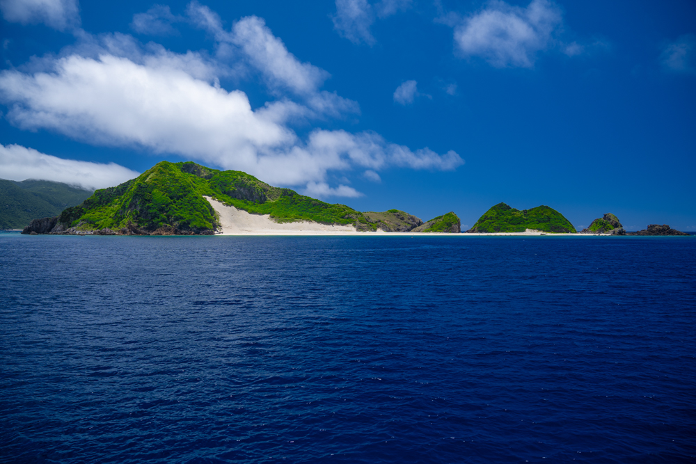
[{"label": "pale puffy cloud at the top, high above the twin-humped hill", "polygon": [[561,26],[560,10],[551,1],[532,0],[527,8],[493,1],[454,26],[454,42],[462,55],[495,67],[532,67]]}]

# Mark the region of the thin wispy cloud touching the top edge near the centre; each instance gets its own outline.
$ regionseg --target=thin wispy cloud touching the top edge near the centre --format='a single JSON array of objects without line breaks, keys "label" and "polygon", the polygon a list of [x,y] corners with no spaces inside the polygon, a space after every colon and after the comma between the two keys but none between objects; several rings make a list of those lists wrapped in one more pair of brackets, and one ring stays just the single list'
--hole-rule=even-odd
[{"label": "thin wispy cloud touching the top edge near the centre", "polygon": [[370,27],[375,19],[408,10],[412,4],[412,0],[382,0],[374,5],[367,3],[367,0],[336,0],[333,29],[354,44],[374,45],[377,40]]}]

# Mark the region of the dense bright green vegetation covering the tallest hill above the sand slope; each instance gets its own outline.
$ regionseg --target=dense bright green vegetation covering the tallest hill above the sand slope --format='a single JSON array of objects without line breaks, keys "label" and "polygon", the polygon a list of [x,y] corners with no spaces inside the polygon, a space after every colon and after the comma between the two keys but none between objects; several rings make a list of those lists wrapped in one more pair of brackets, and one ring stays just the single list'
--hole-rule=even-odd
[{"label": "dense bright green vegetation covering the tallest hill above the sand slope", "polygon": [[219,171],[190,161],[162,161],[125,184],[97,190],[82,205],[63,211],[59,221],[84,229],[119,229],[132,223],[145,230],[165,225],[210,230],[216,226],[215,211],[204,195],[253,214],[269,214],[279,222],[358,223],[372,230],[362,213],[345,205],[279,189],[242,171]]}]

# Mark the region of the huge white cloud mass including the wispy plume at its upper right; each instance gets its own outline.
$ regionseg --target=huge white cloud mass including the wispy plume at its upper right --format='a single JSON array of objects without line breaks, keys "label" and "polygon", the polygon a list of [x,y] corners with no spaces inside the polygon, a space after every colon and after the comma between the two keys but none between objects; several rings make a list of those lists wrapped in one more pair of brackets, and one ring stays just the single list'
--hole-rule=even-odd
[{"label": "huge white cloud mass including the wispy plume at its upper right", "polygon": [[[221,60],[152,43],[143,47],[118,33],[86,35],[31,69],[0,72],[6,118],[21,129],[177,154],[323,196],[357,194],[350,187],[332,189],[326,183],[330,171],[452,170],[464,163],[455,152],[413,151],[369,131],[314,129],[300,138],[290,128],[298,118],[340,116],[356,111],[356,105],[322,91],[328,74],[290,54],[262,19],[242,18],[226,31],[206,7],[192,3],[188,12],[232,54]],[[253,109],[241,90],[221,88],[219,76],[235,72],[240,63],[260,72],[278,99]]]}]

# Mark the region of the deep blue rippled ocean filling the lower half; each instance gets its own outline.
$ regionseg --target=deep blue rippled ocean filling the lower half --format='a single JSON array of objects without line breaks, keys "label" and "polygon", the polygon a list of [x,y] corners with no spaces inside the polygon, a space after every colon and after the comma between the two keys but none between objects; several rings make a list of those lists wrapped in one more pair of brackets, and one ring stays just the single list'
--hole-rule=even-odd
[{"label": "deep blue rippled ocean filling the lower half", "polygon": [[3,463],[696,460],[696,237],[0,234]]}]

